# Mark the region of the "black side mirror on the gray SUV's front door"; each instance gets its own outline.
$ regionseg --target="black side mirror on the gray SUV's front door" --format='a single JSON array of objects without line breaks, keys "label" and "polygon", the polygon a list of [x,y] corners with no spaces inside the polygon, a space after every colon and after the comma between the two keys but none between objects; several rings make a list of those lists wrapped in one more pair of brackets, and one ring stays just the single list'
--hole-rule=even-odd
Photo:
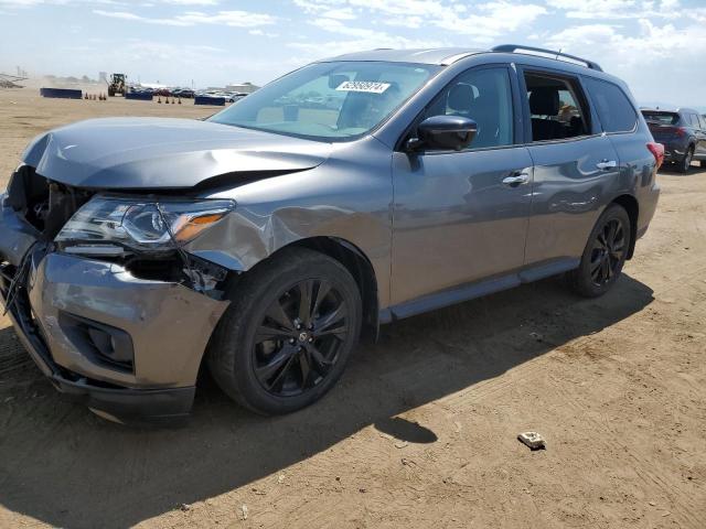
[{"label": "black side mirror on the gray SUV's front door", "polygon": [[431,116],[417,126],[418,138],[407,141],[407,149],[416,151],[466,149],[478,133],[478,123],[462,116]]}]

